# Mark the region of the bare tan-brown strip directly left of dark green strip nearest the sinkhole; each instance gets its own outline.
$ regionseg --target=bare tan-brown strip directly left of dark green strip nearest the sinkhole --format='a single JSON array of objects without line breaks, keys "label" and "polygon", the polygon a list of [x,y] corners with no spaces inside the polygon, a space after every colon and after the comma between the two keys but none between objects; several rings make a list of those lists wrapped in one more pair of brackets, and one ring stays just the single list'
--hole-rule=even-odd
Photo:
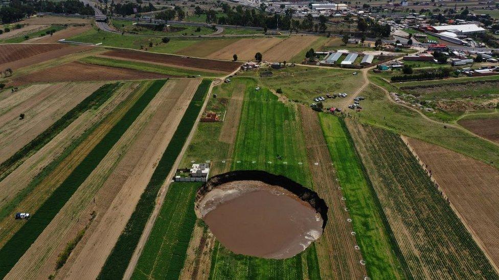
[{"label": "bare tan-brown strip directly left of dark green strip nearest the sinkhole", "polygon": [[[112,179],[111,177],[106,182],[109,184],[108,188],[118,188],[118,190],[114,192],[115,196],[109,197],[109,200],[105,201],[105,205],[108,207],[107,211],[102,213],[102,219],[96,224],[92,234],[88,235],[88,239],[80,246],[81,251],[75,254],[74,262],[66,266],[66,273],[61,274],[64,275],[64,278],[97,277],[135,209],[135,205],[148,184],[163,151],[168,146],[199,83],[200,80],[172,80],[162,89],[160,93],[165,97],[158,102],[157,112],[147,123],[144,132],[137,140],[135,144],[137,148],[133,150],[132,147],[130,155],[128,155],[130,159],[123,160],[125,165],[131,165],[129,162],[137,158],[135,160],[137,165],[130,166],[130,172],[118,172],[118,177],[114,180],[128,174],[124,179],[120,179],[118,184],[109,181]],[[107,194],[109,191],[102,188],[102,193]],[[99,203],[99,199],[96,200]]]}]

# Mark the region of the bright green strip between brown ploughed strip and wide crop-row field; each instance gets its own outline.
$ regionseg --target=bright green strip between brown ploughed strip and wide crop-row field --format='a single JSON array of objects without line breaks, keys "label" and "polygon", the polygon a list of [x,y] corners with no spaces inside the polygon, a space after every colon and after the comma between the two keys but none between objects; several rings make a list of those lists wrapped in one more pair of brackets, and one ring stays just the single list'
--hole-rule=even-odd
[{"label": "bright green strip between brown ploughed strip and wide crop-row field", "polygon": [[399,248],[343,119],[320,114],[324,138],[372,279],[403,278]]}]

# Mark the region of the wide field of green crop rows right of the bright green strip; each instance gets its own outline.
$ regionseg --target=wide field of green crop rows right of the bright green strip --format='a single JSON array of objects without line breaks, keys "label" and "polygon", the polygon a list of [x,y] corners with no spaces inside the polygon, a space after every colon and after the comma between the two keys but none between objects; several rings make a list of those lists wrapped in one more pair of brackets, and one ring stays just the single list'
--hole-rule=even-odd
[{"label": "wide field of green crop rows right of the bright green strip", "polygon": [[498,279],[401,138],[347,124],[412,276]]}]

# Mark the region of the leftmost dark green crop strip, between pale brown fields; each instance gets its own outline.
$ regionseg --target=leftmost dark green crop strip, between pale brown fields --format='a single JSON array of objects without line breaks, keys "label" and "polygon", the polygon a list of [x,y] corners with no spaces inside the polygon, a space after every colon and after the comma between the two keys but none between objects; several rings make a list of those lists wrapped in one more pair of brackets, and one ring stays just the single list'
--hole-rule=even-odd
[{"label": "leftmost dark green crop strip, between pale brown fields", "polygon": [[54,122],[48,129],[40,133],[35,139],[31,140],[24,147],[19,149],[9,159],[0,164],[0,180],[4,179],[13,169],[24,162],[28,157],[49,143],[57,134],[70,125],[75,119],[87,110],[98,108],[109,97],[114,90],[119,86],[119,83],[106,84],[83,99],[75,108],[65,113],[60,119]]}]

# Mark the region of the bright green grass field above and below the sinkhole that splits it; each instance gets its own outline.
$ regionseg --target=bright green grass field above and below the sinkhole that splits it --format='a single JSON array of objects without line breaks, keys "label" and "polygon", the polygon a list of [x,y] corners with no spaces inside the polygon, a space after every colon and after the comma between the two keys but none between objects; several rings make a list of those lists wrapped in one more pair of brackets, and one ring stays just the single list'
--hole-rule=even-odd
[{"label": "bright green grass field above and below the sinkhole that splits it", "polygon": [[[281,103],[268,89],[256,91],[255,85],[247,84],[232,169],[265,170],[311,186],[296,106]],[[312,279],[320,275],[314,246],[290,259],[268,260],[234,254],[217,242],[210,277],[297,279],[304,271]]]}]

